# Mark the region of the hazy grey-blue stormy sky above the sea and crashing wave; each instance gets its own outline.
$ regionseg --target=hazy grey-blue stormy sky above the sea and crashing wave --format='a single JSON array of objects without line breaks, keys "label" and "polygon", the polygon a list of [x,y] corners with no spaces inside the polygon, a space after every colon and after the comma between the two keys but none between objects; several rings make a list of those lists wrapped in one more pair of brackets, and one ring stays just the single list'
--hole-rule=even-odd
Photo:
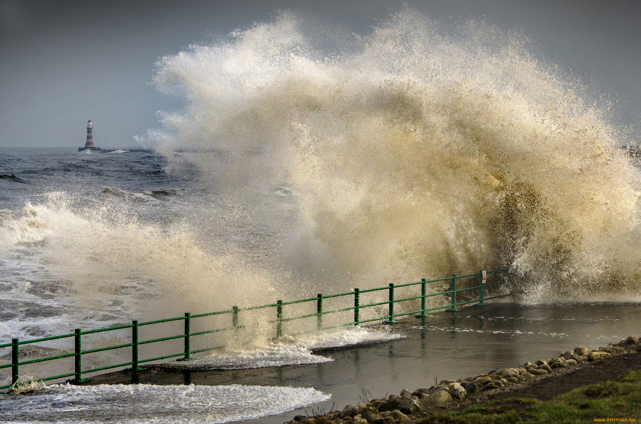
[{"label": "hazy grey-blue stormy sky above the sea and crashing wave", "polygon": [[[519,29],[547,58],[641,117],[641,3],[637,1],[18,1],[0,0],[0,147],[78,147],[87,119],[97,146],[137,147],[156,111],[180,100],[156,92],[154,63],[190,44],[295,10],[367,34],[403,7],[439,20],[475,17]],[[641,141],[641,140],[637,140]]]}]

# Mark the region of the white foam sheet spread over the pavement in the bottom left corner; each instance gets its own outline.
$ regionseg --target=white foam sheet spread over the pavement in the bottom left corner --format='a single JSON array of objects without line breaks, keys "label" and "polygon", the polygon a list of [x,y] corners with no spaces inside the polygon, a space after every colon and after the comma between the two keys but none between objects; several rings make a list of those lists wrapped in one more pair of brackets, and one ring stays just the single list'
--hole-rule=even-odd
[{"label": "white foam sheet spread over the pavement in the bottom left corner", "polygon": [[3,396],[3,423],[227,423],[293,411],[328,400],[313,387],[47,386]]}]

